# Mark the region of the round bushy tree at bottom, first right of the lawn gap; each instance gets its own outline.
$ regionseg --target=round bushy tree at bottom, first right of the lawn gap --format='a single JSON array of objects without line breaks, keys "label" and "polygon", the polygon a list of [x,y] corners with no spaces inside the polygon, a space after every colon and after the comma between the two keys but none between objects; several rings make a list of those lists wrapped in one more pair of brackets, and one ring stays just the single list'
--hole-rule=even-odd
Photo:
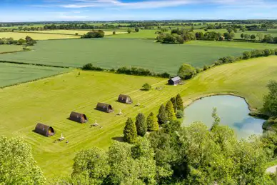
[{"label": "round bushy tree at bottom, first right of the lawn gap", "polygon": [[71,176],[84,184],[102,184],[109,172],[108,155],[94,146],[76,154]]}]

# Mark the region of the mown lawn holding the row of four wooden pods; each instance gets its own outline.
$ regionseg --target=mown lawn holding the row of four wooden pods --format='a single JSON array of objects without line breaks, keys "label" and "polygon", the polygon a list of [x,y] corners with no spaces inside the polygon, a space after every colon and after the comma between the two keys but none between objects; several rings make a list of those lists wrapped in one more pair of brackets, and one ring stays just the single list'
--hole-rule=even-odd
[{"label": "mown lawn holding the row of four wooden pods", "polygon": [[[149,113],[176,96],[183,86],[167,86],[166,79],[126,76],[104,72],[74,71],[69,74],[0,89],[0,133],[21,136],[33,146],[33,154],[47,177],[69,175],[77,151],[100,146],[107,149],[113,137],[122,135],[127,117]],[[163,90],[141,91],[144,83],[163,86]],[[117,102],[119,94],[129,94],[139,107]],[[94,108],[109,103],[115,112]],[[116,116],[119,109],[124,113]],[[89,123],[78,124],[67,118],[71,111],[86,114]],[[91,127],[95,120],[100,126]],[[33,132],[38,122],[53,126],[56,135],[46,138]],[[101,128],[103,126],[103,128]],[[63,142],[54,143],[61,134]],[[66,144],[69,141],[69,144]]]}]

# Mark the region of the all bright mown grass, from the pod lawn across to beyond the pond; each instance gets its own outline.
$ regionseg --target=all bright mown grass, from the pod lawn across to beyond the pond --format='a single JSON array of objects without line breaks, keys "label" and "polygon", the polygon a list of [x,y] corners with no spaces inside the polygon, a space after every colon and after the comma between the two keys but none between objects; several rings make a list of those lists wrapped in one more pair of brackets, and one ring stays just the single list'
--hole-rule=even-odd
[{"label": "all bright mown grass, from the pod lawn across to beyond the pond", "polygon": [[[217,66],[186,81],[183,86],[167,86],[165,79],[104,72],[81,71],[79,76],[78,70],[12,86],[0,90],[3,115],[0,117],[0,132],[6,136],[21,136],[31,144],[34,157],[47,178],[69,175],[77,151],[91,146],[107,149],[112,138],[122,136],[128,116],[134,119],[139,112],[156,113],[160,104],[177,93],[188,102],[205,94],[232,92],[245,96],[252,107],[261,108],[266,84],[277,79],[276,61],[277,56],[271,56]],[[163,86],[163,89],[140,91],[145,82],[153,84],[153,88]],[[119,94],[131,95],[134,103],[141,106],[116,102]],[[94,110],[98,102],[112,104],[115,112],[106,114]],[[123,116],[115,116],[119,109]],[[91,128],[89,124],[67,120],[71,111],[86,114],[89,124],[97,120],[103,128]],[[54,126],[56,135],[46,138],[32,132],[37,122]],[[53,142],[61,133],[69,144]]]}]

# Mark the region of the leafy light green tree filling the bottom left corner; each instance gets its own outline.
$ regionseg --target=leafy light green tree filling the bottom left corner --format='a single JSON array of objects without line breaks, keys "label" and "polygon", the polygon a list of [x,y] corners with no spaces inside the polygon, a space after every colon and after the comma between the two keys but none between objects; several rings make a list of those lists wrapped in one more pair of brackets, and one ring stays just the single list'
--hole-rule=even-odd
[{"label": "leafy light green tree filling the bottom left corner", "polygon": [[20,138],[0,136],[0,184],[45,184],[46,179]]}]

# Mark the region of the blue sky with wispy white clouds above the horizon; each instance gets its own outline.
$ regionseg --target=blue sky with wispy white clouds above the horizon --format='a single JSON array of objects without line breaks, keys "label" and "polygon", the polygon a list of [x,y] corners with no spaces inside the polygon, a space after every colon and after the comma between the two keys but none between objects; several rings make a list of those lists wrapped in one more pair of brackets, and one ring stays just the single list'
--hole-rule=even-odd
[{"label": "blue sky with wispy white clouds above the horizon", "polygon": [[277,19],[277,0],[0,0],[0,22]]}]

